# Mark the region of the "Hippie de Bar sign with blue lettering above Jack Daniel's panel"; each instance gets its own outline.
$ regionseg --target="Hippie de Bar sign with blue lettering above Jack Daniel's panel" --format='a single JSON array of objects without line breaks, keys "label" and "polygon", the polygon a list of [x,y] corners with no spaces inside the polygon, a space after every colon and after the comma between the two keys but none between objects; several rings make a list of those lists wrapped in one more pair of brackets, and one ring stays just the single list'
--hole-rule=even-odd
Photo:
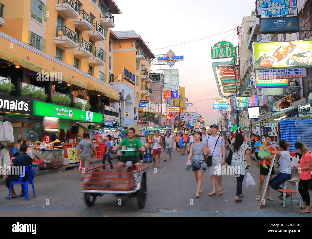
[{"label": "Hippie de Bar sign with blue lettering above Jack Daniel's panel", "polygon": [[258,18],[297,17],[297,0],[257,0]]}]

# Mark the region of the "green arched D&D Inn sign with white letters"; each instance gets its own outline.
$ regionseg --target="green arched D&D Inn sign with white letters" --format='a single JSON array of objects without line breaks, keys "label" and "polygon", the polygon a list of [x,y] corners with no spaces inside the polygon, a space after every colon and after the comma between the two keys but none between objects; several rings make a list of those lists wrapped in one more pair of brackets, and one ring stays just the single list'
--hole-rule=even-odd
[{"label": "green arched D&D Inn sign with white letters", "polygon": [[236,57],[236,47],[231,42],[217,42],[211,48],[212,59],[224,59]]}]

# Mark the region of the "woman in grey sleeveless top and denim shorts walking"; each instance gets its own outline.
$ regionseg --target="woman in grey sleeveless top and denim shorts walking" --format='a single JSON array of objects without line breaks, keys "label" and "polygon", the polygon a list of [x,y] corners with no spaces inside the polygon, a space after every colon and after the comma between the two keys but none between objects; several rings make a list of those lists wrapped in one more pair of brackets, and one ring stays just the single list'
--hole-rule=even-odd
[{"label": "woman in grey sleeveless top and denim shorts walking", "polygon": [[202,142],[202,132],[196,132],[193,136],[194,142],[191,144],[190,154],[188,155],[187,163],[192,160],[192,171],[195,174],[195,179],[197,182],[197,192],[196,198],[199,197],[199,193],[202,193],[202,175],[206,172],[207,164],[205,162],[204,155],[208,155],[205,144]]}]

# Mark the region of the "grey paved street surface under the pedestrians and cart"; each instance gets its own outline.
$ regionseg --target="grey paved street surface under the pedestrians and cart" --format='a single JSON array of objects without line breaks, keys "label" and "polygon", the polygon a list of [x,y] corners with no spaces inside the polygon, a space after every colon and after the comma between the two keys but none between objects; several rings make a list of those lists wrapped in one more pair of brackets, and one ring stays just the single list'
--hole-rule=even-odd
[{"label": "grey paved street surface under the pedestrians and cart", "polygon": [[[245,180],[243,202],[235,203],[236,178],[233,175],[222,176],[222,196],[208,196],[212,187],[206,172],[203,193],[200,198],[195,198],[194,174],[184,169],[187,155],[173,152],[172,161],[168,162],[163,161],[164,154],[161,157],[162,168],[154,173],[154,168],[149,167],[147,172],[147,202],[142,210],[138,209],[135,197],[115,197],[112,194],[105,194],[96,199],[93,207],[86,207],[80,192],[80,171],[72,169],[35,177],[37,197],[30,194],[29,201],[24,197],[5,199],[8,190],[1,186],[0,217],[311,217],[311,214],[299,215],[295,203],[293,212],[290,212],[289,203],[286,205],[285,215],[281,213],[281,205],[276,213],[275,201],[267,202],[259,209],[259,201],[255,200],[258,185],[246,188]],[[259,168],[254,165],[252,161],[250,173],[258,183]],[[19,185],[15,187],[17,191],[20,189]],[[270,196],[276,198],[276,192],[272,190]],[[118,205],[119,198],[121,205]],[[47,200],[49,205],[46,205]],[[193,205],[190,203],[192,200]]]}]

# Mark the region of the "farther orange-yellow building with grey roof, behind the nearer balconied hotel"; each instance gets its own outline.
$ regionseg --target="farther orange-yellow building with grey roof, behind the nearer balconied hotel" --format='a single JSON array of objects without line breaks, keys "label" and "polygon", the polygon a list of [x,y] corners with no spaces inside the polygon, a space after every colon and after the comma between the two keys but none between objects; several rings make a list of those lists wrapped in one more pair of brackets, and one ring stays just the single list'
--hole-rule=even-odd
[{"label": "farther orange-yellow building with grey roof, behind the nearer balconied hotel", "polygon": [[[110,70],[114,74],[114,82],[111,84],[117,87],[123,82],[129,88],[127,92],[125,90],[128,97],[125,102],[125,111],[128,111],[125,123],[128,122],[127,119],[131,122],[133,119],[139,121],[140,115],[144,113],[144,107],[139,107],[139,100],[150,102],[153,95],[149,60],[154,59],[155,56],[134,31],[110,31],[110,39],[113,46],[110,53],[113,64]],[[135,77],[135,81],[129,80],[129,77],[125,76],[127,74]]]}]

